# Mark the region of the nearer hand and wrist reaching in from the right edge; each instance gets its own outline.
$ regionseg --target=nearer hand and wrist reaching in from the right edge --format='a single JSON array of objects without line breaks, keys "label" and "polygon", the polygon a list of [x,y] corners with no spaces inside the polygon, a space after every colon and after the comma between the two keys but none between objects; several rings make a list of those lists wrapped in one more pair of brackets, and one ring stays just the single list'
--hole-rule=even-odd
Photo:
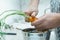
[{"label": "nearer hand and wrist reaching in from the right edge", "polygon": [[33,22],[32,25],[40,31],[58,27],[60,26],[60,14],[45,14],[44,16]]}]

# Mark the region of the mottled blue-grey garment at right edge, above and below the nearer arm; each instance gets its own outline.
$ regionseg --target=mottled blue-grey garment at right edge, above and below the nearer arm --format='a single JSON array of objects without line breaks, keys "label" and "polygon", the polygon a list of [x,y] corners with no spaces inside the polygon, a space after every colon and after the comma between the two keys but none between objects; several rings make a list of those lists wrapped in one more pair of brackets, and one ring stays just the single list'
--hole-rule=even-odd
[{"label": "mottled blue-grey garment at right edge, above and below the nearer arm", "polygon": [[[50,5],[52,13],[60,13],[60,0],[51,0]],[[60,40],[60,27],[56,28],[56,36]]]}]

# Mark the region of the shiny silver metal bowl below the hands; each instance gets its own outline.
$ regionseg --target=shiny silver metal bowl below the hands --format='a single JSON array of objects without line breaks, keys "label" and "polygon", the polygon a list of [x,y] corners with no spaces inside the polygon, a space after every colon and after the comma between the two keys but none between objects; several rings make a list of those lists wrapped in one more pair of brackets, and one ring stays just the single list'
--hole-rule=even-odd
[{"label": "shiny silver metal bowl below the hands", "polygon": [[24,39],[25,40],[47,40],[47,33],[46,32],[37,32],[36,29],[28,28],[24,29]]}]

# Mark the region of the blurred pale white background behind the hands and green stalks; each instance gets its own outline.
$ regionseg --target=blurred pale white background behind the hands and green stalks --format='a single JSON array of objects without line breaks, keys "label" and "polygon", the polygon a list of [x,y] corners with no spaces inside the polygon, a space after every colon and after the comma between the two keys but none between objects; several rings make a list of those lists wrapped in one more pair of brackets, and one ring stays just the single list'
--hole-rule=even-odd
[{"label": "blurred pale white background behind the hands and green stalks", "polygon": [[[0,14],[6,10],[21,10],[24,11],[26,10],[26,8],[28,7],[30,0],[0,0]],[[40,17],[44,14],[44,10],[46,8],[50,7],[50,0],[41,0],[40,4],[39,4],[39,13],[37,15],[37,17]],[[4,14],[4,15],[7,15]],[[4,15],[0,16],[0,19],[4,17]],[[18,18],[17,18],[18,17]],[[19,21],[20,16],[10,16],[6,19],[6,23],[11,25],[14,24],[16,22],[16,20]],[[15,20],[16,19],[16,20]],[[15,24],[15,25],[19,25],[19,23]],[[28,25],[29,26],[29,25]],[[26,27],[26,26],[24,26]],[[7,29],[5,32],[9,32],[9,33],[17,33],[17,35],[5,35],[5,40],[24,40],[23,38],[23,33],[21,30],[9,30]],[[51,37],[50,40],[55,40],[55,32],[52,31],[51,32]]]}]

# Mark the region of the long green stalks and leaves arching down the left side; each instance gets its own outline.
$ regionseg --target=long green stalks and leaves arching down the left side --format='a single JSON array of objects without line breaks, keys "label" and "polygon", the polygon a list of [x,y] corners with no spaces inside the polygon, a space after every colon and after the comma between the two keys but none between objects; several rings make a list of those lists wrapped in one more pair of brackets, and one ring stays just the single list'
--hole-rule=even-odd
[{"label": "long green stalks and leaves arching down the left side", "polygon": [[3,38],[3,39],[0,38],[0,40],[5,40],[3,36],[4,36],[6,33],[2,31],[2,28],[3,28],[3,27],[4,27],[5,29],[8,29],[8,28],[10,29],[10,28],[11,28],[8,24],[5,23],[5,19],[6,19],[8,16],[11,16],[11,15],[15,15],[15,14],[16,14],[16,15],[28,17],[24,12],[19,11],[19,10],[7,10],[7,11],[4,11],[1,15],[3,15],[3,14],[6,13],[6,12],[9,13],[9,12],[12,12],[12,11],[14,11],[14,12],[11,13],[11,14],[6,15],[6,16],[3,17],[2,19],[0,19],[0,36],[1,36],[1,38]]}]

